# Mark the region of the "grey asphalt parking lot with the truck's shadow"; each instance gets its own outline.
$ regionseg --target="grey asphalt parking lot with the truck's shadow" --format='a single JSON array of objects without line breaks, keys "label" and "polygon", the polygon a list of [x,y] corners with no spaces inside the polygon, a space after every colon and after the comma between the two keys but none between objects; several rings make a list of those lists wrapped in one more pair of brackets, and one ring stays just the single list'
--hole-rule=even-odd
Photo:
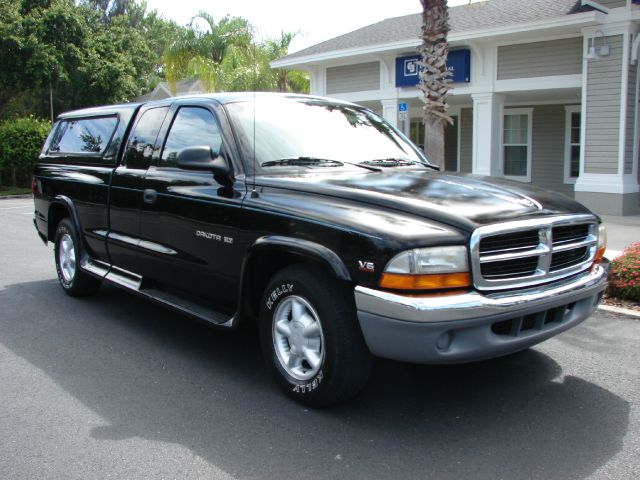
[{"label": "grey asphalt parking lot with the truck's shadow", "polygon": [[637,479],[640,321],[510,357],[379,361],[331,410],[280,394],[250,334],[114,288],[63,294],[29,200],[0,201],[2,479]]}]

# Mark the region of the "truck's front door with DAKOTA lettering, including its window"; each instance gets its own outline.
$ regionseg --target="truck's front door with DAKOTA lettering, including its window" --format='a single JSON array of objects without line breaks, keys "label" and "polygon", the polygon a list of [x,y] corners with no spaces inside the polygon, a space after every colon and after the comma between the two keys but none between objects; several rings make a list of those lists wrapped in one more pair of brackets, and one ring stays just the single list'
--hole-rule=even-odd
[{"label": "truck's front door with DAKOTA lettering, including its window", "polygon": [[[210,171],[183,170],[178,152],[209,146],[231,161],[218,118],[206,105],[174,107],[162,152],[144,180],[142,274],[158,288],[233,307],[240,262],[238,221],[244,182],[224,185]],[[164,130],[164,129],[163,129]]]}]

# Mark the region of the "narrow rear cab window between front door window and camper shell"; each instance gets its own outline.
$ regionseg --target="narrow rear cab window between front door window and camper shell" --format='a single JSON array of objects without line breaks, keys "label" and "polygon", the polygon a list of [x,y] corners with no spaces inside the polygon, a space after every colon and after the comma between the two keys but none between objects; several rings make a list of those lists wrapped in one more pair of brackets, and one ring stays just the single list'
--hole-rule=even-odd
[{"label": "narrow rear cab window between front door window and camper shell", "polygon": [[168,111],[169,107],[151,108],[138,119],[127,143],[127,168],[144,169],[151,165],[156,138]]}]

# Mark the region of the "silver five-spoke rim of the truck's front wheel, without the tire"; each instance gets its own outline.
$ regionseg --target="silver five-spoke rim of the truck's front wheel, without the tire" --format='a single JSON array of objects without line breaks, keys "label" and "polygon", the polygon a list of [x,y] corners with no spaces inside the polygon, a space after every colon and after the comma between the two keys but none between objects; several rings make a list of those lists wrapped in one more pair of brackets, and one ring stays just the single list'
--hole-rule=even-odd
[{"label": "silver five-spoke rim of the truck's front wheel, without the tire", "polygon": [[296,380],[313,378],[324,359],[320,318],[311,304],[291,295],[273,314],[273,345],[280,365]]}]

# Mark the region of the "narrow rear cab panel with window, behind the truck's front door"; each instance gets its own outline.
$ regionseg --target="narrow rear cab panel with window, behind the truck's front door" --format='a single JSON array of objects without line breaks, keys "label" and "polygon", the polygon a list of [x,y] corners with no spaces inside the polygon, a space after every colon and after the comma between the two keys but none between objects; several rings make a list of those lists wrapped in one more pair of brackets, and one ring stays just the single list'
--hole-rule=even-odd
[{"label": "narrow rear cab panel with window, behind the truck's front door", "polygon": [[139,274],[140,207],[144,175],[158,155],[158,132],[169,105],[143,107],[127,140],[120,165],[111,180],[107,248],[111,263]]}]

